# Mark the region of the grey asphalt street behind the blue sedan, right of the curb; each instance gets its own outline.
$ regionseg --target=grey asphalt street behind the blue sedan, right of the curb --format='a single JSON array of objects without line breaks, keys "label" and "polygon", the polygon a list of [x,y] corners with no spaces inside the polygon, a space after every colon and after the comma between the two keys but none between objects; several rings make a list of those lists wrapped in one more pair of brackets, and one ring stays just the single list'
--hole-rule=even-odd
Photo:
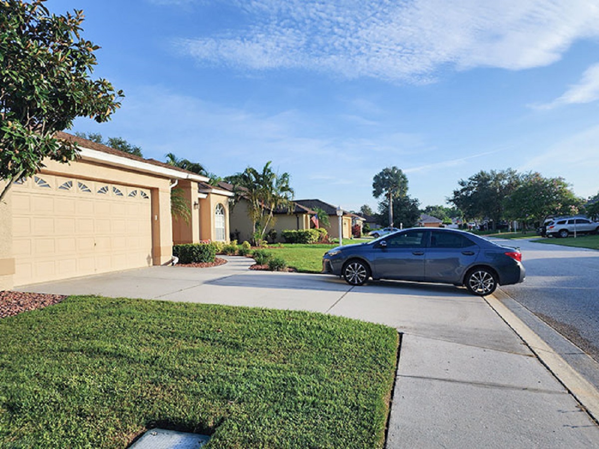
[{"label": "grey asphalt street behind the blue sedan, right of the curb", "polygon": [[501,290],[599,362],[599,251],[526,240],[501,244],[519,246],[527,270],[524,283]]}]

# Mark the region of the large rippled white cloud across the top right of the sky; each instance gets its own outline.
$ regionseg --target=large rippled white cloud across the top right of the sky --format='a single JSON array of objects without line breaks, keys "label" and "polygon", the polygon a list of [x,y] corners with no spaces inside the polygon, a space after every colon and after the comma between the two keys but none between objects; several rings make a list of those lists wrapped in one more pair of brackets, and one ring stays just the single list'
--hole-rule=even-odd
[{"label": "large rippled white cloud across the top right of the sky", "polygon": [[246,13],[247,24],[176,46],[240,69],[426,83],[447,65],[549,65],[574,41],[599,37],[599,4],[588,0],[222,1]]}]

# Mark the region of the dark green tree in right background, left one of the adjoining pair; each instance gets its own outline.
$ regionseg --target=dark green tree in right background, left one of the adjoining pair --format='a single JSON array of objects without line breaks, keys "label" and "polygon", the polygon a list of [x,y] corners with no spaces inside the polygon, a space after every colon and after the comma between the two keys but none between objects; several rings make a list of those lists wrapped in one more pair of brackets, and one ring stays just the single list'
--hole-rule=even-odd
[{"label": "dark green tree in right background, left one of the adjoining pair", "polygon": [[511,168],[480,171],[468,180],[459,180],[458,184],[461,188],[453,190],[453,196],[447,201],[462,210],[469,219],[491,219],[495,229],[505,215],[504,199],[521,184],[521,176]]}]

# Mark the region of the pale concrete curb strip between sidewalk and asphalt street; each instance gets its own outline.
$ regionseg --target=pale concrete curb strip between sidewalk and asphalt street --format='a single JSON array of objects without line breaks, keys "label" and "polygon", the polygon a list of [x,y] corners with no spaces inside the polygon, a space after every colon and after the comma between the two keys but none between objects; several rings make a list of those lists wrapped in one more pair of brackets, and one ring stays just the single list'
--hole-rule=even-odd
[{"label": "pale concrete curb strip between sidewalk and asphalt street", "polygon": [[497,313],[507,325],[516,332],[528,345],[537,358],[552,372],[574,398],[586,409],[589,415],[599,422],[599,390],[583,378],[558,353],[533,332],[520,318],[516,316],[500,298],[507,296],[500,290],[490,296],[485,296],[486,303]]}]

